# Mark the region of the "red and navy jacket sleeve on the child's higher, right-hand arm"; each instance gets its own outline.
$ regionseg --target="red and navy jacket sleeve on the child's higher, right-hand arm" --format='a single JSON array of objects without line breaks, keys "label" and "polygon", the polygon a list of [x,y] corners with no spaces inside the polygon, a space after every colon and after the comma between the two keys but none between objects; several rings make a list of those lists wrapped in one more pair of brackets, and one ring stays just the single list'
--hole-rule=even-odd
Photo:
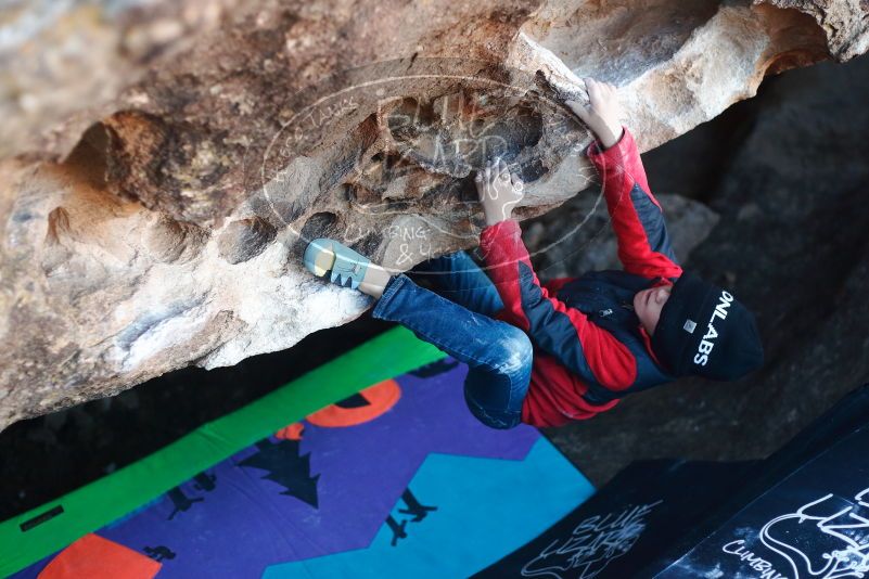
[{"label": "red and navy jacket sleeve on the child's higher, right-hand arm", "polygon": [[682,269],[670,247],[664,214],[649,191],[634,136],[605,151],[593,142],[586,152],[600,175],[606,208],[618,240],[618,259],[628,273],[644,278],[679,278]]}]

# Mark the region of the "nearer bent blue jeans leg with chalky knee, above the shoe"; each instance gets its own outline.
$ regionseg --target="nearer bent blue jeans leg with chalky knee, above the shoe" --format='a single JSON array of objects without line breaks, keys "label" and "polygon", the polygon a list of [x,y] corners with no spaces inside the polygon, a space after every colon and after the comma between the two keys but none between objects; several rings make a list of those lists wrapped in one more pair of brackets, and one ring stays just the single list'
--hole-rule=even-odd
[{"label": "nearer bent blue jeans leg with chalky knee, above the shoe", "polygon": [[468,364],[464,399],[481,422],[493,428],[521,422],[533,353],[522,330],[473,312],[404,274],[386,285],[372,314],[402,324]]}]

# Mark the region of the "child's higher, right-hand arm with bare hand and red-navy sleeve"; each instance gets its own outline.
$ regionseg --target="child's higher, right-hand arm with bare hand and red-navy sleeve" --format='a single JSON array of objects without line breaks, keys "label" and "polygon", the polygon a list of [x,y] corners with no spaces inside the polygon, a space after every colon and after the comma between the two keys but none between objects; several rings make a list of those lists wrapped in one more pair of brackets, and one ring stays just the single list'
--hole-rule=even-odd
[{"label": "child's higher, right-hand arm with bare hand and red-navy sleeve", "polygon": [[615,87],[586,78],[589,103],[568,102],[598,141],[587,151],[600,175],[625,270],[646,278],[678,278],[664,214],[649,190],[634,136],[621,123]]}]

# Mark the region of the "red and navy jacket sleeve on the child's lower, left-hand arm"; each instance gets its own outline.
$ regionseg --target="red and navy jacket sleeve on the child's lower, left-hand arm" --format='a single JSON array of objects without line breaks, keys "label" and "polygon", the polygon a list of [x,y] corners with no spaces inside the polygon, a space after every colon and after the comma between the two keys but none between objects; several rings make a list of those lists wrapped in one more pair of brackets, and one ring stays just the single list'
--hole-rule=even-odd
[{"label": "red and navy jacket sleeve on the child's lower, left-hand arm", "polygon": [[499,319],[524,330],[537,347],[580,377],[592,376],[616,390],[634,383],[637,361],[627,346],[540,285],[515,220],[484,229],[480,247],[504,304]]}]

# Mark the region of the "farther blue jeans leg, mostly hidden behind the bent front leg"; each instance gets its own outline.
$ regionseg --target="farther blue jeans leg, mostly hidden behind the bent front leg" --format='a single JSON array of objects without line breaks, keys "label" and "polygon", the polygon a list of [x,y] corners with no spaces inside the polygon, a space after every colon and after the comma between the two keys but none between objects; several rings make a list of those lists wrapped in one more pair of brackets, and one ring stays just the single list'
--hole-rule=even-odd
[{"label": "farther blue jeans leg, mostly hidden behind the bent front leg", "polygon": [[503,309],[495,284],[464,252],[424,261],[413,268],[413,272],[431,279],[439,295],[471,311],[494,316]]}]

